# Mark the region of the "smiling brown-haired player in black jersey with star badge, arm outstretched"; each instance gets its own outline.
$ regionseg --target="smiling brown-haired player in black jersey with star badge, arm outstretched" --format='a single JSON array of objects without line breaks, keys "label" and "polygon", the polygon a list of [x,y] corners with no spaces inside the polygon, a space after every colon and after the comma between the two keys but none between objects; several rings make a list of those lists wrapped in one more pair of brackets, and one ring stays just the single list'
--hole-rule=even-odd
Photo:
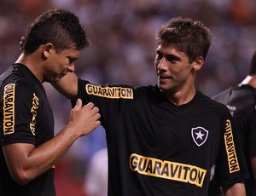
[{"label": "smiling brown-haired player in black jersey with star badge, arm outstretched", "polygon": [[108,195],[206,196],[214,164],[224,195],[245,195],[247,166],[230,111],[195,88],[210,30],[177,17],[160,27],[156,39],[155,86],[90,84],[74,72],[53,83],[72,101],[100,108]]}]

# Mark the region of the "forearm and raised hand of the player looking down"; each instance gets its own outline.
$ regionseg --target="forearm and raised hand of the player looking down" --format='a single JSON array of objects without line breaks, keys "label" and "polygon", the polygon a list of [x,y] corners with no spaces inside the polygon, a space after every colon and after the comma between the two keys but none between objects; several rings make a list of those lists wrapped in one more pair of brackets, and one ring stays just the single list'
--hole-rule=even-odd
[{"label": "forearm and raised hand of the player looking down", "polygon": [[[81,104],[82,102],[80,101]],[[78,109],[77,106],[73,108],[71,120],[63,130],[55,135],[53,139],[34,148],[28,154],[26,164],[24,164],[26,166],[27,182],[49,170],[67,153],[74,141],[80,136],[89,134],[100,125],[98,108],[93,107],[92,103],[84,106],[79,112],[74,112],[74,110]],[[90,107],[93,107],[91,111],[88,110]]]}]

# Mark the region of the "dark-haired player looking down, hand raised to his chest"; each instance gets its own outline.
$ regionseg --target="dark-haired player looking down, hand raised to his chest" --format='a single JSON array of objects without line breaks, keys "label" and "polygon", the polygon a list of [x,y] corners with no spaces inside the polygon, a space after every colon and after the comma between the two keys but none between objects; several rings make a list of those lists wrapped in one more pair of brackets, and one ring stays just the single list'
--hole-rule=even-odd
[{"label": "dark-haired player looking down, hand raised to his chest", "polygon": [[22,53],[0,76],[1,196],[54,196],[54,167],[80,136],[100,124],[99,108],[78,100],[66,127],[54,136],[54,117],[42,83],[74,71],[88,45],[73,13],[53,9],[26,32]]}]

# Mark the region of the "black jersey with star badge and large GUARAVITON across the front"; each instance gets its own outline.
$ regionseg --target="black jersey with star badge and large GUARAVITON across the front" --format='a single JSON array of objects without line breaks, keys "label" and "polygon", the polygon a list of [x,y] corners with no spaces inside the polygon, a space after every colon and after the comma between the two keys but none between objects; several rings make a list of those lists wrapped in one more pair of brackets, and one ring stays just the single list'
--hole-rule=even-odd
[{"label": "black jersey with star badge and large GUARAVITON across the front", "polygon": [[98,86],[79,79],[78,97],[100,108],[108,195],[206,196],[213,164],[224,186],[247,176],[228,108],[201,92],[177,107],[156,86]]}]

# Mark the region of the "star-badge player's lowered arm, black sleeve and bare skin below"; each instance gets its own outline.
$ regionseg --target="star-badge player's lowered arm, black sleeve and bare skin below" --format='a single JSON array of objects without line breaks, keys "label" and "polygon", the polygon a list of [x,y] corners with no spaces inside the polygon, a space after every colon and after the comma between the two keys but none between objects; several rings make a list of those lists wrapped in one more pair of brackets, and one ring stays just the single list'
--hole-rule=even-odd
[{"label": "star-badge player's lowered arm, black sleeve and bare skin below", "polygon": [[[231,137],[228,140],[233,140],[233,149],[236,153],[237,164],[239,170],[236,172],[230,173],[230,165],[229,165],[229,157],[228,157],[228,149],[226,145],[229,145],[229,141],[225,139],[226,135],[223,135],[221,138],[218,159],[216,160],[216,173],[218,174],[218,180],[220,184],[222,184],[221,190],[225,196],[245,196],[246,190],[243,179],[245,179],[248,175],[247,173],[247,164],[246,159],[244,157],[244,153],[242,150],[241,142],[239,142],[239,135],[236,131],[236,125],[234,124],[234,120],[231,117],[231,114],[227,107],[224,107],[225,116],[223,118],[221,124],[222,133],[229,133]],[[227,141],[226,141],[227,140]],[[231,183],[231,181],[235,181]],[[230,183],[228,183],[230,182]]]}]

